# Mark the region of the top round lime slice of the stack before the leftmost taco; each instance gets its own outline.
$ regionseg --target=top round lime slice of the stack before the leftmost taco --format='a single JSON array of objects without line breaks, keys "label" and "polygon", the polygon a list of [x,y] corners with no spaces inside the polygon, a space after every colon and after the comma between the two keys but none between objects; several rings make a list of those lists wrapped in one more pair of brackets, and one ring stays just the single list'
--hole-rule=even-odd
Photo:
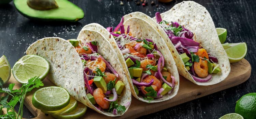
[{"label": "top round lime slice of the stack before the leftmost taco", "polygon": [[61,87],[51,86],[35,91],[32,104],[34,107],[44,111],[57,111],[70,102],[70,96],[67,90]]}]

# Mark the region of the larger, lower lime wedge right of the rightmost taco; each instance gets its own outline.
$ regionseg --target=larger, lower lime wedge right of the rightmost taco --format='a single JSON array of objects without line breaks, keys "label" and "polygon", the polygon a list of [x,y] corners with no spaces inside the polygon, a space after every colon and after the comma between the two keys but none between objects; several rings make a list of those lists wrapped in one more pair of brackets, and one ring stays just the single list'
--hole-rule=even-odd
[{"label": "larger, lower lime wedge right of the rightmost taco", "polygon": [[242,60],[247,53],[246,43],[222,44],[225,49],[230,63]]}]

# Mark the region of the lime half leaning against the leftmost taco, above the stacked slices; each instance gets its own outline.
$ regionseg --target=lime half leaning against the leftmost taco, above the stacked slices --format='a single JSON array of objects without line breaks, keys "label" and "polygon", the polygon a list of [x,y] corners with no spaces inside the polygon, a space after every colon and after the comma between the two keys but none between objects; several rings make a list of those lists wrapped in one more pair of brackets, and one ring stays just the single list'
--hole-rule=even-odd
[{"label": "lime half leaning against the leftmost taco, above the stacked slices", "polygon": [[25,55],[14,64],[12,73],[19,83],[27,83],[33,77],[43,80],[49,69],[49,63],[43,57]]}]

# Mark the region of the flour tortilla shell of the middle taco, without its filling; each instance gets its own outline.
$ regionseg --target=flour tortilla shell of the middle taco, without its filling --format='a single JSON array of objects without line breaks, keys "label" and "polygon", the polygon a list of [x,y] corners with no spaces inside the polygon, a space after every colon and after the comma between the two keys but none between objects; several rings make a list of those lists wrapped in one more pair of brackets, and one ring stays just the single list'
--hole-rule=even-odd
[{"label": "flour tortilla shell of the middle taco, without its filling", "polygon": [[[138,24],[138,22],[140,22],[140,24]],[[137,37],[152,39],[154,41],[154,43],[157,44],[159,51],[165,57],[165,62],[166,62],[166,66],[167,66],[168,71],[175,77],[175,88],[173,89],[172,93],[163,96],[163,98],[152,100],[150,103],[162,102],[162,101],[166,101],[166,100],[169,100],[169,99],[173,98],[177,94],[177,91],[179,90],[179,74],[178,74],[178,71],[177,71],[177,68],[175,66],[175,62],[174,62],[173,58],[172,57],[167,57],[168,55],[171,55],[171,53],[165,49],[165,47],[167,47],[167,46],[165,44],[159,44],[159,42],[161,40],[161,37],[157,33],[157,31],[154,31],[153,28],[151,28],[151,29],[153,29],[154,33],[158,34],[158,35],[151,34],[150,33],[151,30],[143,30],[143,33],[139,33],[139,32],[141,32],[140,30],[142,30],[144,28],[146,29],[148,27],[151,27],[150,25],[147,24],[147,22],[145,22],[141,19],[130,19],[127,22],[124,23],[124,26],[127,28],[128,24],[130,25],[130,32],[134,36],[138,35]],[[137,26],[139,26],[139,29],[137,29]],[[83,29],[92,29],[92,30],[99,31],[106,39],[108,39],[110,41],[113,49],[119,55],[118,58],[119,58],[119,60],[122,64],[122,66],[125,67],[123,70],[125,70],[125,72],[127,72],[126,74],[127,74],[130,86],[132,87],[131,88],[132,95],[135,98],[137,98],[138,100],[148,103],[148,100],[145,100],[142,97],[138,97],[136,95],[136,92],[133,88],[132,80],[131,80],[130,75],[129,75],[128,68],[127,68],[126,63],[125,63],[125,59],[123,57],[122,52],[118,48],[113,36],[110,35],[110,33],[104,27],[102,27],[102,26],[100,26],[99,24],[96,24],[96,23],[88,24]],[[136,33],[139,33],[139,34],[136,34]],[[157,41],[157,39],[160,39],[160,40]]]}]

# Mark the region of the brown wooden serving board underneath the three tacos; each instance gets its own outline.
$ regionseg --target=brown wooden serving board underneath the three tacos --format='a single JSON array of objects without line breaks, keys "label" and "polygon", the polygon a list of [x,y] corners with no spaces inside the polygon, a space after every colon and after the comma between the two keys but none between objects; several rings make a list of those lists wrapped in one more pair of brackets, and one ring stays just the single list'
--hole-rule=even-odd
[{"label": "brown wooden serving board underneath the three tacos", "polygon": [[[128,109],[128,111],[123,116],[120,116],[117,118],[131,119],[131,118],[138,118],[143,115],[155,113],[155,112],[161,111],[163,109],[173,107],[175,105],[179,105],[179,104],[182,104],[182,103],[185,103],[185,102],[188,102],[188,101],[191,101],[191,100],[194,100],[194,99],[206,96],[206,95],[213,94],[214,92],[218,92],[218,91],[239,85],[239,84],[245,82],[246,80],[248,80],[250,75],[251,75],[251,65],[247,60],[243,59],[238,63],[232,63],[231,64],[231,72],[228,75],[227,79],[225,79],[221,83],[218,83],[215,85],[198,86],[198,85],[186,80],[182,76],[180,76],[179,92],[174,98],[172,98],[171,100],[165,101],[165,102],[148,104],[148,103],[141,102],[141,101],[137,100],[136,98],[132,97],[131,106]],[[10,83],[15,83],[14,88],[19,88],[21,86],[21,84],[19,84],[13,78],[13,76],[11,77],[9,82],[5,85],[7,86]],[[54,86],[54,84],[47,79],[45,79],[43,81],[43,83],[44,83],[44,87]],[[33,96],[33,93],[35,90],[37,90],[37,89],[34,89],[27,94],[27,97],[25,98],[25,103],[24,103],[25,106],[35,116],[34,119],[46,119],[46,118],[53,119],[53,117],[51,117],[50,115],[46,116],[39,109],[35,108],[32,105],[32,96]],[[102,114],[98,114],[90,108],[87,109],[86,114],[83,116],[83,119],[102,119],[102,118],[111,119],[111,118],[115,118],[115,117],[108,117],[108,116],[104,116]]]}]

